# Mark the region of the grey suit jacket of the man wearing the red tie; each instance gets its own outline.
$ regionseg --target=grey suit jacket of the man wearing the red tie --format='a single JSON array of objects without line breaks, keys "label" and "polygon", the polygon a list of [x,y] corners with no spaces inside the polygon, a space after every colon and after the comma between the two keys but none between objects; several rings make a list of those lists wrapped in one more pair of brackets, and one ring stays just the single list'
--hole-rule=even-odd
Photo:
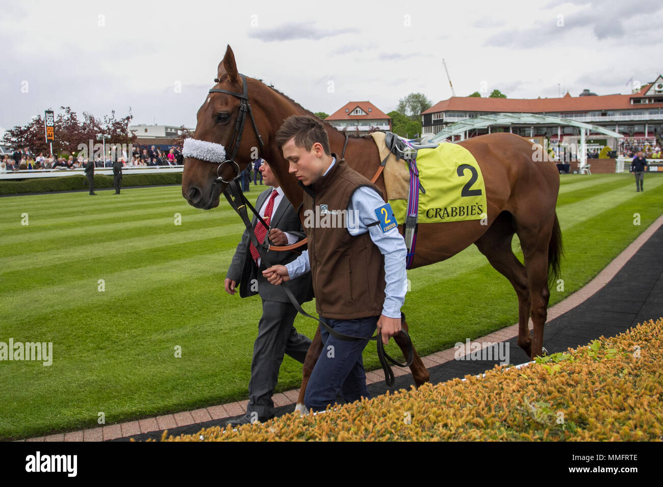
[{"label": "grey suit jacket of the man wearing the red tie", "polygon": [[[255,208],[257,211],[260,211],[260,208],[263,206],[263,203],[265,203],[265,200],[269,197],[269,195],[271,195],[273,189],[274,188],[269,188],[260,193],[255,203]],[[251,223],[253,223],[254,229],[257,221],[257,217],[253,215],[253,220]],[[303,240],[306,237],[306,235],[304,235],[302,223],[297,216],[297,212],[285,196],[281,198],[280,203],[278,203],[278,207],[274,209],[274,213],[272,213],[270,227],[297,235],[298,241]],[[266,266],[262,260],[261,268],[258,269],[255,261],[251,257],[251,251],[249,250],[250,244],[251,239],[249,238],[249,232],[247,229],[245,229],[242,235],[242,239],[237,245],[237,250],[235,250],[235,255],[233,255],[233,260],[225,277],[239,283],[239,296],[242,298],[260,294],[261,298],[267,301],[290,303],[290,298],[288,298],[288,295],[281,288],[283,284],[280,286],[274,286],[273,284],[269,284],[267,279],[265,279],[263,276],[263,270],[265,270]],[[300,250],[304,250],[305,248],[306,247],[300,247]],[[274,251],[268,252],[267,259],[272,265],[285,265],[288,262],[295,260],[298,255],[298,252]],[[257,284],[257,291],[255,290],[255,284]],[[307,272],[306,274],[290,280],[284,284],[290,288],[292,294],[294,294],[294,297],[300,303],[304,303],[313,299],[313,286],[311,284],[310,272]]]}]

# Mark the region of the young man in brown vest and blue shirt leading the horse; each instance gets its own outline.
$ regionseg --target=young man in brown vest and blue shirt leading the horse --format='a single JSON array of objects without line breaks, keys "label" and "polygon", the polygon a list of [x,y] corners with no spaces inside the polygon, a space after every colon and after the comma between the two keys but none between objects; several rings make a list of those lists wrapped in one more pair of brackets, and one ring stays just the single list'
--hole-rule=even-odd
[{"label": "young man in brown vest and blue shirt leading the horse", "polygon": [[[398,227],[385,231],[376,225],[377,213],[389,205],[375,184],[331,153],[320,120],[288,117],[276,133],[276,144],[304,189],[304,215],[347,211],[353,218],[341,226],[305,221],[308,250],[263,274],[278,285],[310,270],[321,319],[334,331],[367,339],[377,328],[387,344],[400,332],[406,277],[406,247]],[[370,398],[361,359],[367,341],[344,341],[326,329],[321,329],[321,337],[324,348],[306,386],[304,405],[324,411],[339,392],[347,402]]]}]

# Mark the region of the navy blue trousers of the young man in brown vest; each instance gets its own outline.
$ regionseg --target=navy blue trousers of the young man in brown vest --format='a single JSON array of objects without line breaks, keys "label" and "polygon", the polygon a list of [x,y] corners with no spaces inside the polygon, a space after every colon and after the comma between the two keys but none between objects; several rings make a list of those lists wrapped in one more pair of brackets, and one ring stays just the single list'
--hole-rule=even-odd
[{"label": "navy blue trousers of the young man in brown vest", "polygon": [[[322,319],[322,317],[321,317]],[[326,319],[327,324],[344,335],[370,338],[377,329],[379,316],[358,319]],[[366,387],[366,373],[361,352],[368,340],[345,341],[332,337],[321,328],[324,346],[311,377],[306,385],[304,406],[310,411],[324,411],[336,402],[340,392],[345,402],[355,402],[362,397],[371,398]]]}]

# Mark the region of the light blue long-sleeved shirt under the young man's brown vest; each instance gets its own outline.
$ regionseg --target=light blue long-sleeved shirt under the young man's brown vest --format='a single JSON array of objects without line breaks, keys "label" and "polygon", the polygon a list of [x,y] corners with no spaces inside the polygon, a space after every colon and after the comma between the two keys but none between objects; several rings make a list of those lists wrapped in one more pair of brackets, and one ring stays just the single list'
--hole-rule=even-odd
[{"label": "light blue long-sleeved shirt under the young man's brown vest", "polygon": [[[325,174],[335,164],[336,159],[332,158],[329,168]],[[324,175],[323,175],[324,176]],[[355,225],[348,227],[350,235],[357,236],[369,232],[371,241],[380,252],[385,256],[385,304],[382,314],[389,318],[400,318],[400,307],[405,301],[406,290],[406,272],[405,272],[405,254],[407,249],[405,241],[398,233],[398,227],[394,227],[387,232],[383,232],[380,225],[368,227],[369,223],[377,221],[375,209],[385,204],[385,201],[373,188],[362,186],[357,189],[347,205],[348,211],[356,211],[357,221]],[[310,271],[311,266],[308,260],[308,250],[286,264],[290,279],[294,279]]]}]

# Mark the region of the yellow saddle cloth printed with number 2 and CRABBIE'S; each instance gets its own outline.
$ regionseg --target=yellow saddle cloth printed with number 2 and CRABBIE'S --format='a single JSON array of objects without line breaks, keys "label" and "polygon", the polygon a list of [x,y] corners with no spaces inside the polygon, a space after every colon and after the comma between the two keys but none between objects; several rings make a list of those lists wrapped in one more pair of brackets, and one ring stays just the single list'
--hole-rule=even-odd
[{"label": "yellow saddle cloth printed with number 2 and CRABBIE'S", "polygon": [[[404,161],[399,163],[406,168]],[[418,223],[485,218],[487,206],[483,175],[469,150],[451,142],[443,142],[432,149],[419,149],[416,166],[426,190],[426,193],[419,193]],[[396,221],[404,223],[407,201],[392,199],[389,192],[387,199]]]}]

